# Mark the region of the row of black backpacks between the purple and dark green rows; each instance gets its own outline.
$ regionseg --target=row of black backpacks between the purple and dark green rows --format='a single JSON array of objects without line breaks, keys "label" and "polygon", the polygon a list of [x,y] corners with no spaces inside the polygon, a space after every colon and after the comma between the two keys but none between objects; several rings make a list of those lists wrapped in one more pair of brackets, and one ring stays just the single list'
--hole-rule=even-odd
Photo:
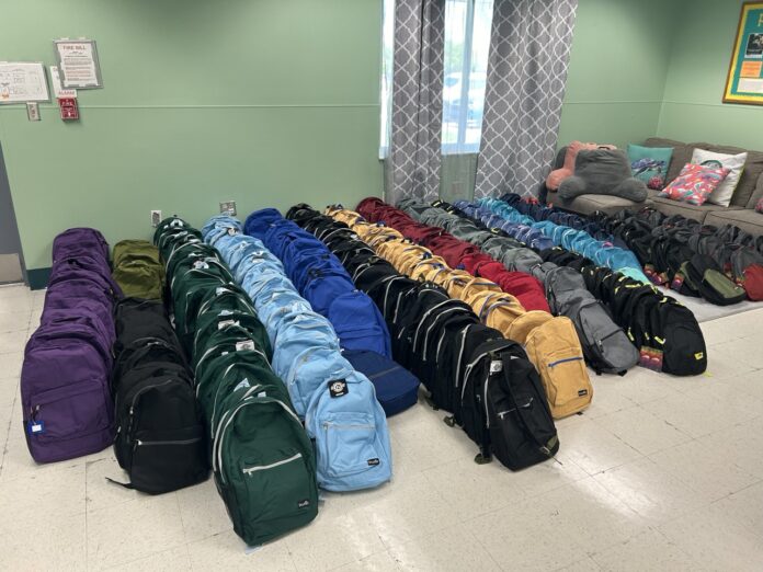
[{"label": "row of black backpacks between the purple and dark green rows", "polygon": [[[161,285],[158,275],[139,282]],[[124,298],[114,323],[114,455],[130,479],[117,484],[161,494],[206,480],[208,439],[193,373],[163,301]]]}]

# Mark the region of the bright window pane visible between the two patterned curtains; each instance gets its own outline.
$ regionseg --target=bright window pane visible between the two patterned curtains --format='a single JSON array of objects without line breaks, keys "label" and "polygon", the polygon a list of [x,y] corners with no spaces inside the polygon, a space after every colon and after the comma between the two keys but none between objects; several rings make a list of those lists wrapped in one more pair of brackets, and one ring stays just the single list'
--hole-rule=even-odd
[{"label": "bright window pane visible between the two patterned curtains", "polygon": [[476,153],[482,134],[493,0],[446,0],[443,155]]}]

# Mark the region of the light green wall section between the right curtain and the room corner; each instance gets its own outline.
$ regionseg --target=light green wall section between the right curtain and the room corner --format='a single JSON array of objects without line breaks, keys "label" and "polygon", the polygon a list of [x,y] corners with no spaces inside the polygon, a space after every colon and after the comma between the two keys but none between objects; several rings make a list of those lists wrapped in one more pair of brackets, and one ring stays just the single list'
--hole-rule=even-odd
[{"label": "light green wall section between the right curtain and the room corner", "polygon": [[677,0],[580,0],[559,146],[657,133]]}]

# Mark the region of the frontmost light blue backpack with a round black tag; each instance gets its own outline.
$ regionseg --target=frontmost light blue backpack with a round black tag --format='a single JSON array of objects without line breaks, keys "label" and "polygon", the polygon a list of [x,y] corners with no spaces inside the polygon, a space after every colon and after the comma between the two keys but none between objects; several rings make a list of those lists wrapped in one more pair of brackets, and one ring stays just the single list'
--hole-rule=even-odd
[{"label": "frontmost light blue backpack with a round black tag", "polygon": [[327,491],[378,487],[392,478],[387,417],[374,385],[344,362],[314,393],[305,428],[316,444],[318,485]]}]

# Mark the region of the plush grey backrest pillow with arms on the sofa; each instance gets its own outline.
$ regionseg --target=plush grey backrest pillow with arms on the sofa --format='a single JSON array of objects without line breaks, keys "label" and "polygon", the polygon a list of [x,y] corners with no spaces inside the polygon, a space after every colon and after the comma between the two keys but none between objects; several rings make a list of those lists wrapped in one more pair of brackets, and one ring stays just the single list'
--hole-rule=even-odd
[{"label": "plush grey backrest pillow with arms on the sofa", "polygon": [[630,163],[620,149],[589,149],[578,152],[574,175],[559,185],[559,197],[614,195],[635,203],[647,198],[647,185],[630,176]]}]

